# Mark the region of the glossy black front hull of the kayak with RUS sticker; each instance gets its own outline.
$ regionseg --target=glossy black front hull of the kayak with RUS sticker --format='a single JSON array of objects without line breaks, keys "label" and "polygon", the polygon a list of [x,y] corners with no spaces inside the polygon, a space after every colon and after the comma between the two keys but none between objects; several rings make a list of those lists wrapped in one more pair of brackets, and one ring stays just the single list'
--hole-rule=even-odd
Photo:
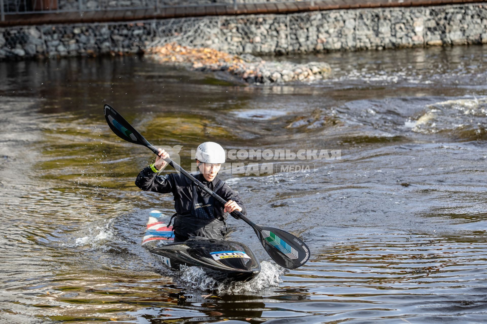
[{"label": "glossy black front hull of the kayak with RUS sticker", "polygon": [[250,281],[261,271],[261,264],[244,244],[235,241],[194,238],[150,250],[174,270],[201,267],[219,281]]}]

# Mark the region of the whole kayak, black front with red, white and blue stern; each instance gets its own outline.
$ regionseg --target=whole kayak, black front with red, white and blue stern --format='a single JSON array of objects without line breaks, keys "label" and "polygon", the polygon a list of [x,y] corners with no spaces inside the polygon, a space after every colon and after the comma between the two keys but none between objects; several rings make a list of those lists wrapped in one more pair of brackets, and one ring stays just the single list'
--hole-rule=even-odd
[{"label": "whole kayak, black front with red, white and blue stern", "polygon": [[142,245],[171,269],[185,271],[188,267],[201,267],[222,282],[248,282],[261,272],[261,263],[243,243],[201,237],[174,243],[171,230],[171,226],[167,227],[167,216],[153,210],[142,240]]}]

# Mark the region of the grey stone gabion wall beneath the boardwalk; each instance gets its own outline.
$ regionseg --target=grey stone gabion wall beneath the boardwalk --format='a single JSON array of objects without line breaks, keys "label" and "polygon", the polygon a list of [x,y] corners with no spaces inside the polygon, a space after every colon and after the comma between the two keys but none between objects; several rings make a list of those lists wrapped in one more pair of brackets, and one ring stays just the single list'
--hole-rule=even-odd
[{"label": "grey stone gabion wall beneath the boardwalk", "polygon": [[137,53],[169,42],[285,54],[487,43],[483,4],[0,29],[0,59]]}]

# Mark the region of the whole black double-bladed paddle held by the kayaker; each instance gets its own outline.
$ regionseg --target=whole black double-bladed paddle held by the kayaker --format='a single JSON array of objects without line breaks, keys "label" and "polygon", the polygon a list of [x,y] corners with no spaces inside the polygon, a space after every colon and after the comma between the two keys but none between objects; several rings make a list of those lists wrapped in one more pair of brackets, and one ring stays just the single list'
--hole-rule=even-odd
[{"label": "whole black double-bladed paddle held by the kayaker", "polygon": [[[108,104],[104,106],[105,119],[107,119],[108,126],[112,129],[113,133],[126,141],[139,144],[148,147],[155,154],[158,153],[158,149],[152,146],[144,136],[140,135],[131,124],[127,122],[115,109]],[[213,196],[220,203],[225,205],[226,201],[211,191],[208,187],[198,181],[195,177],[189,174],[186,170],[181,168],[176,162],[170,158],[164,159],[171,167],[180,171],[186,175],[193,183],[198,187],[205,190],[208,194]],[[233,211],[232,216],[237,219],[242,219],[244,222],[252,226],[255,233],[261,240],[262,246],[269,256],[276,261],[281,267],[294,269],[302,266],[310,257],[308,246],[299,238],[294,235],[282,231],[279,228],[270,226],[263,226],[256,224],[246,218],[241,212]]]}]

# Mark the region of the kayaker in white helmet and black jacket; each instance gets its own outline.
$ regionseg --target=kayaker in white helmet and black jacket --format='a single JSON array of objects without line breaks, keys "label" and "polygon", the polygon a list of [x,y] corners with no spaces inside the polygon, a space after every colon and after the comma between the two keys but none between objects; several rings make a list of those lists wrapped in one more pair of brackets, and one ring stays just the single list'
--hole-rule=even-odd
[{"label": "kayaker in white helmet and black jacket", "polygon": [[192,236],[223,239],[227,231],[225,213],[238,210],[246,215],[239,195],[217,177],[221,164],[225,163],[225,151],[218,143],[205,142],[198,146],[195,157],[199,173],[193,176],[225,199],[225,206],[181,173],[160,175],[158,172],[166,167],[164,158],[168,158],[169,154],[159,149],[157,155],[153,164],[140,171],[135,185],[145,191],[170,192],[174,195],[176,213],[172,217],[175,242],[185,241]]}]

